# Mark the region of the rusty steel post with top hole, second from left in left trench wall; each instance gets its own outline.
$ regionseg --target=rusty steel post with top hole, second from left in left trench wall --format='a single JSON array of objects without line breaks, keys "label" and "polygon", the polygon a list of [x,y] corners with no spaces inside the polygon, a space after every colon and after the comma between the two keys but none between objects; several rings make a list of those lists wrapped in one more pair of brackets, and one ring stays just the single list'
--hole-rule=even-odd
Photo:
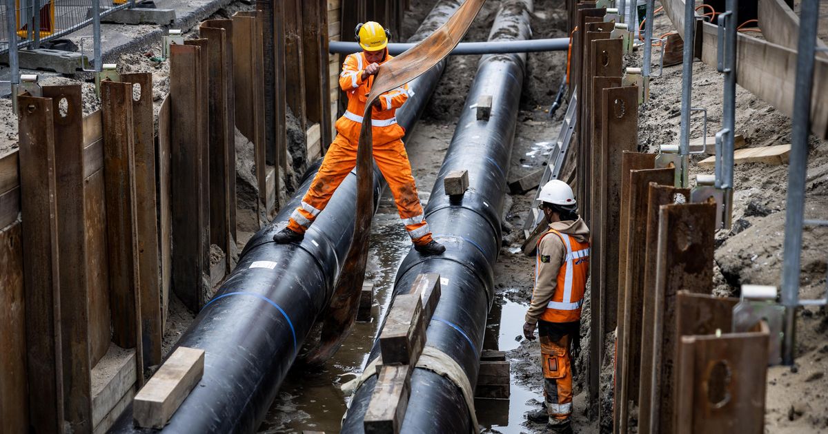
[{"label": "rusty steel post with top hole, second from left in left trench wall", "polygon": [[[51,98],[55,136],[55,188],[58,265],[60,267],[60,333],[63,351],[64,409],[73,432],[89,432],[89,294],[84,222],[84,131],[80,86],[44,86]],[[63,106],[61,108],[61,106]]]}]

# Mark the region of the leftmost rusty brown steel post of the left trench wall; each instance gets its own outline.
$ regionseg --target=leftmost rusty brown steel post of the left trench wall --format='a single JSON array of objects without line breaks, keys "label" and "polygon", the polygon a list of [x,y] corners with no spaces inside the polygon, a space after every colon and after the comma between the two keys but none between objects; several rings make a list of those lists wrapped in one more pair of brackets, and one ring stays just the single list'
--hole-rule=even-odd
[{"label": "leftmost rusty brown steel post of the left trench wall", "polygon": [[36,432],[64,432],[55,114],[49,98],[21,95],[17,103],[29,420]]}]

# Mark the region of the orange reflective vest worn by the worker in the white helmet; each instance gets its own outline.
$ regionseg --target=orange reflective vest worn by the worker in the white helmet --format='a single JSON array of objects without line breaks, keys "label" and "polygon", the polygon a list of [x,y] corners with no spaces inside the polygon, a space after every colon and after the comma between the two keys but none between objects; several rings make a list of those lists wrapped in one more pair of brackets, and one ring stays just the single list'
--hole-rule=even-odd
[{"label": "orange reflective vest worn by the worker in the white helmet", "polygon": [[566,256],[558,270],[555,294],[546,305],[541,320],[546,322],[573,322],[580,319],[580,308],[584,304],[586,278],[590,271],[590,242],[578,242],[574,236],[562,234],[550,229],[537,241],[537,265],[535,267],[535,285],[537,270],[541,265],[540,246],[543,238],[555,234],[566,246]]}]

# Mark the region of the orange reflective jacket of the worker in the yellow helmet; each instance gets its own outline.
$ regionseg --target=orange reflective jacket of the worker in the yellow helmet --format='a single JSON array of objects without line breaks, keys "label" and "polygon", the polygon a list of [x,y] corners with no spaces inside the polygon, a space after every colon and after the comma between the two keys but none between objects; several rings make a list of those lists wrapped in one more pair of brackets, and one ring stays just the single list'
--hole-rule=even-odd
[{"label": "orange reflective jacket of the worker in the yellow helmet", "polygon": [[[387,54],[380,64],[392,59],[393,56]],[[365,103],[368,103],[368,93],[371,92],[373,85],[373,75],[366,79],[368,83],[364,83],[362,79],[362,72],[367,66],[368,60],[365,59],[365,55],[362,52],[354,53],[345,57],[342,73],[339,74],[339,87],[348,95],[348,109],[336,121],[336,131],[351,141],[359,141]],[[373,111],[371,116],[374,145],[383,145],[405,136],[406,131],[397,124],[397,107],[402,106],[408,96],[408,84],[380,96],[379,103],[382,104],[382,110]]]}]

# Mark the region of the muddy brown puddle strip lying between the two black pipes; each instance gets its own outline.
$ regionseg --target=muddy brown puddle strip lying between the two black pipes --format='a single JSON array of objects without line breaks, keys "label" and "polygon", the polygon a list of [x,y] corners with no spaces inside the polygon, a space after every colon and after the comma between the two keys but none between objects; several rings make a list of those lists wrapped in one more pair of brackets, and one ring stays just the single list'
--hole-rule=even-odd
[{"label": "muddy brown puddle strip lying between the two black pipes", "polygon": [[292,369],[258,432],[339,432],[349,398],[339,387],[362,371],[377,334],[378,318],[388,307],[397,268],[411,248],[393,203],[389,209],[383,200],[374,217],[371,246],[366,280],[374,284],[373,321],[354,324],[342,348],[324,369]]}]

